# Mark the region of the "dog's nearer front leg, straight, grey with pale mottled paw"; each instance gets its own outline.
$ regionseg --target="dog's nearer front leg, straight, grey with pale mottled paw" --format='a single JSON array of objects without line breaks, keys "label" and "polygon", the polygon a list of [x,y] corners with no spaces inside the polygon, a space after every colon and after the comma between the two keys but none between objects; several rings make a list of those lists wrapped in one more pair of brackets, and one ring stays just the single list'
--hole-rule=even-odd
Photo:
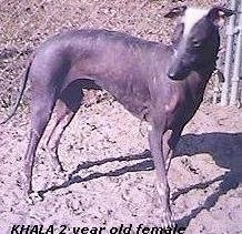
[{"label": "dog's nearer front leg, straight, grey with pale mottled paw", "polygon": [[164,227],[172,225],[170,208],[170,187],[168,184],[165,160],[163,156],[163,128],[152,124],[149,132],[150,150],[154,160],[157,171],[157,190],[161,200],[163,212],[162,225]]}]

